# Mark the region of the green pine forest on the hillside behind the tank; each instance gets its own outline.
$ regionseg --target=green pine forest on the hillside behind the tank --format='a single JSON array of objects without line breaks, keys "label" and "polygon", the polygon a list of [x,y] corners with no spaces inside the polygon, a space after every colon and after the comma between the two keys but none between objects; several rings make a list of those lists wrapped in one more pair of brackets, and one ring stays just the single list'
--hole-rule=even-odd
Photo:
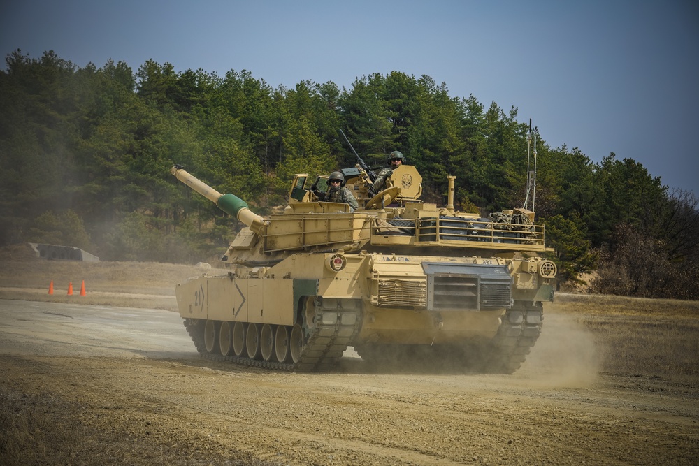
[{"label": "green pine forest on the hillside behind the tank", "polygon": [[[266,214],[294,173],[372,167],[400,150],[442,202],[487,215],[526,196],[528,123],[517,108],[449,96],[398,71],[273,88],[249,71],[177,72],[146,61],[83,68],[15,50],[0,71],[0,245],[71,245],[112,261],[218,256],[240,225],[169,173],[185,166]],[[565,117],[565,115],[561,115]],[[699,202],[633,159],[593,163],[538,129],[537,222],[562,280],[596,272],[593,291],[699,298]]]}]

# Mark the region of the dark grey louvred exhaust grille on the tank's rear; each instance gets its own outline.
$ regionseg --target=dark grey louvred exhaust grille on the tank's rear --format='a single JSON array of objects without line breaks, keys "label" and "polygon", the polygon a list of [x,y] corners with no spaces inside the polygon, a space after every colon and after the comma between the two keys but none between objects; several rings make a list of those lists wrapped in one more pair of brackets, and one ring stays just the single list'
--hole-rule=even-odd
[{"label": "dark grey louvred exhaust grille on the tank's rear", "polygon": [[430,311],[512,307],[512,277],[507,265],[422,263]]}]

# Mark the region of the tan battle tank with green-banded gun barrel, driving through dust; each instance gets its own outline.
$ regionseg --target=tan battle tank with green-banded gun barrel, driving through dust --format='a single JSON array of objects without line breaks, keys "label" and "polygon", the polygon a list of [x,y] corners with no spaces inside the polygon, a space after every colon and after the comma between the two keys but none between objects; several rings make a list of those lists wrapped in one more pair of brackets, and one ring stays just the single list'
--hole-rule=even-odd
[{"label": "tan battle tank with green-banded gun barrel, driving through dust", "polygon": [[175,288],[202,356],[271,370],[328,371],[353,347],[377,365],[512,373],[542,328],[556,265],[534,212],[489,218],[419,200],[401,166],[373,195],[361,166],[342,170],[359,209],[319,202],[327,176],[294,176],[284,211],[261,217],[174,166],[171,173],[245,227],[225,275]]}]

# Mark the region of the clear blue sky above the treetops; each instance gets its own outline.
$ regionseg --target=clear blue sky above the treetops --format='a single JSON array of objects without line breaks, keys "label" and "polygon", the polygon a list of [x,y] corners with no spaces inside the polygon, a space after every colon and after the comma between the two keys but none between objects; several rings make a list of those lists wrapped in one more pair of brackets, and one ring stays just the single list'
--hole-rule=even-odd
[{"label": "clear blue sky above the treetops", "polygon": [[17,48],[78,66],[247,69],[272,87],[428,75],[519,108],[551,147],[615,152],[699,195],[696,0],[6,0],[0,51]]}]

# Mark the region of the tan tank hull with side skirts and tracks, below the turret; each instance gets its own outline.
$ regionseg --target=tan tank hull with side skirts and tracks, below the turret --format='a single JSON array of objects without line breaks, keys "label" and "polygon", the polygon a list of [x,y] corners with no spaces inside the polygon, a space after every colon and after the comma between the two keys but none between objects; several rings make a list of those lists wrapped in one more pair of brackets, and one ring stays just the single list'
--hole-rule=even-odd
[{"label": "tan tank hull with side skirts and tracks, below the turret", "polygon": [[175,296],[195,346],[213,359],[331,370],[354,347],[374,363],[419,353],[430,365],[513,372],[540,333],[541,301],[553,296],[538,262],[301,253],[190,279]]}]

